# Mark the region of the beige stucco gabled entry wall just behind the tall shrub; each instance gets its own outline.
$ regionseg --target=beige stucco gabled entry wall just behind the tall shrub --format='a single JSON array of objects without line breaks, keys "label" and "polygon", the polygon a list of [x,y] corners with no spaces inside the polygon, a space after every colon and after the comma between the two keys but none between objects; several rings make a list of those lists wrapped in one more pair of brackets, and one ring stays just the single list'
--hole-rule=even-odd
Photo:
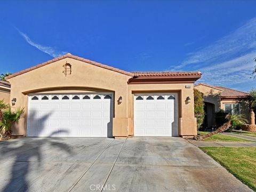
[{"label": "beige stucco gabled entry wall just behind the tall shrub", "polygon": [[213,89],[205,85],[197,85],[195,89],[204,94],[204,101],[210,102],[215,106],[215,112],[218,112],[221,107],[220,93],[221,91]]}]

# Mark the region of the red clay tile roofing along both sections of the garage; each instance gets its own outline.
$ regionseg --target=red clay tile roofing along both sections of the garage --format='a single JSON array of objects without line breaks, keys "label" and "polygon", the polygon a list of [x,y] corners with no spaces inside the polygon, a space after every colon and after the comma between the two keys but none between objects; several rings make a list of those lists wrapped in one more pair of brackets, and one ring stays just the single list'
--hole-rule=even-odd
[{"label": "red clay tile roofing along both sections of the garage", "polygon": [[28,71],[37,69],[39,67],[43,67],[43,66],[48,65],[52,62],[55,62],[55,61],[58,61],[58,60],[61,60],[61,59],[65,59],[65,58],[72,58],[72,59],[76,59],[76,60],[79,60],[79,61],[84,61],[84,62],[90,63],[91,65],[102,67],[102,68],[109,69],[109,70],[113,70],[113,71],[116,71],[117,73],[129,75],[131,77],[175,77],[176,76],[176,77],[185,77],[185,78],[186,77],[198,77],[198,78],[200,78],[201,75],[202,75],[201,72],[134,72],[134,73],[131,73],[131,72],[127,72],[127,71],[124,71],[124,70],[121,70],[121,69],[117,69],[117,68],[114,68],[114,67],[103,65],[101,63],[91,61],[91,60],[88,60],[88,59],[84,59],[84,58],[72,55],[70,53],[67,53],[67,54],[62,55],[58,58],[55,58],[55,59],[52,59],[50,61],[41,63],[37,66],[30,67],[30,68],[22,70],[18,73],[14,73],[12,75],[9,75],[9,76],[5,77],[5,79],[9,79],[9,78],[27,73]]}]

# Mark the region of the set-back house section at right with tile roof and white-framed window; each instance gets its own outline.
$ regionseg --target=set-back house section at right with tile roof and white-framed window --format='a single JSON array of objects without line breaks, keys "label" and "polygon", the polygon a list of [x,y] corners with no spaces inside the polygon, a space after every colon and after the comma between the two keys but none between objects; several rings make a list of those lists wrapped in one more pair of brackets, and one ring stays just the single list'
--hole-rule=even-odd
[{"label": "set-back house section at right with tile roof and white-framed window", "polygon": [[195,85],[195,89],[204,94],[205,127],[216,125],[215,113],[221,109],[229,114],[244,114],[249,121],[248,93],[204,83]]}]

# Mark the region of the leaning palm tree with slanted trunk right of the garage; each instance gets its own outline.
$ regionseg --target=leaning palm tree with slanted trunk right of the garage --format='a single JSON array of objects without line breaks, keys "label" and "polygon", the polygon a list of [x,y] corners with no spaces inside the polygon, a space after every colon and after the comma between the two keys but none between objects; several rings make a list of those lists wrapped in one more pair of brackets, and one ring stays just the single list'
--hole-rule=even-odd
[{"label": "leaning palm tree with slanted trunk right of the garage", "polygon": [[228,120],[228,122],[221,125],[217,130],[212,131],[208,134],[205,134],[205,135],[203,135],[199,138],[195,138],[195,139],[202,141],[202,140],[205,140],[206,138],[211,137],[214,134],[221,133],[223,131],[228,130],[232,124],[235,124],[235,123],[236,124],[246,124],[247,123],[247,119],[242,114],[241,115],[240,114],[239,115],[238,114],[235,114],[235,115],[228,114],[228,115],[226,115],[226,119]]}]

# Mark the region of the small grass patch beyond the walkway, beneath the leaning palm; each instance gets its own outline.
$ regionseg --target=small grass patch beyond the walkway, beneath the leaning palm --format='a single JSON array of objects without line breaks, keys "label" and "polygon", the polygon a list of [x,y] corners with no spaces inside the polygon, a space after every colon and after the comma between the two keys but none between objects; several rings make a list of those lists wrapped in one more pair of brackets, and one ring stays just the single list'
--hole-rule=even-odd
[{"label": "small grass patch beyond the walkway, beneath the leaning palm", "polygon": [[[205,135],[208,132],[204,132],[204,131],[198,131],[198,133],[200,135]],[[246,139],[241,139],[241,138],[235,138],[235,137],[230,137],[227,135],[221,135],[221,134],[214,134],[212,135],[210,138],[205,139],[204,141],[222,141],[222,142],[253,142],[250,140],[246,140]]]}]

